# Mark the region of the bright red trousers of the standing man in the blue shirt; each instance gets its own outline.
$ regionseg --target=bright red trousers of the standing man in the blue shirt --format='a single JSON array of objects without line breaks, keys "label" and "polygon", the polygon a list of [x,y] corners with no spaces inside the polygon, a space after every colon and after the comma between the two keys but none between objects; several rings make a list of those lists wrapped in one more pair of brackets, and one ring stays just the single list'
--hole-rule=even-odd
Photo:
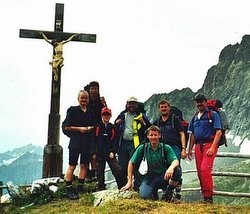
[{"label": "bright red trousers of the standing man in the blue shirt", "polygon": [[218,152],[218,148],[212,157],[206,155],[207,150],[212,143],[196,144],[195,145],[195,162],[198,178],[200,180],[200,186],[203,197],[213,196],[213,177],[212,169],[214,166],[214,159]]}]

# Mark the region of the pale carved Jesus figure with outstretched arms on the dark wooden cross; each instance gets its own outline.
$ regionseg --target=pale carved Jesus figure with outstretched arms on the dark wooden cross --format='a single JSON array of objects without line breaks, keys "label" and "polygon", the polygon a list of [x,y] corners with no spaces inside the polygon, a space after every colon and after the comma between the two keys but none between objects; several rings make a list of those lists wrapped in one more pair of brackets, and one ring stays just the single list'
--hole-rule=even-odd
[{"label": "pale carved Jesus figure with outstretched arms on the dark wooden cross", "polygon": [[49,64],[52,66],[52,70],[54,73],[54,80],[57,81],[58,80],[58,69],[61,68],[63,66],[63,45],[69,41],[71,41],[75,34],[72,35],[71,37],[69,37],[67,40],[63,40],[63,41],[58,41],[56,39],[52,39],[49,40],[48,37],[41,32],[42,37],[44,38],[44,40],[46,42],[48,42],[49,44],[51,44],[54,48],[54,54],[53,54],[53,58],[52,61],[49,62]]}]

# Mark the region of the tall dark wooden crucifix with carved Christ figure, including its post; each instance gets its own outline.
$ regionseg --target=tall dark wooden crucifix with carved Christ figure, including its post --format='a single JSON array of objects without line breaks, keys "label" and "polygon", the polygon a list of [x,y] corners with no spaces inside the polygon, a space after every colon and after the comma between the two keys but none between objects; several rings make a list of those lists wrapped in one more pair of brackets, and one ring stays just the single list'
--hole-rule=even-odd
[{"label": "tall dark wooden crucifix with carved Christ figure, including its post", "polygon": [[20,29],[19,37],[45,39],[53,46],[51,101],[47,145],[43,152],[43,178],[61,176],[63,149],[59,145],[60,133],[60,87],[63,66],[62,46],[69,41],[96,42],[95,34],[63,32],[64,4],[56,3],[54,31]]}]

